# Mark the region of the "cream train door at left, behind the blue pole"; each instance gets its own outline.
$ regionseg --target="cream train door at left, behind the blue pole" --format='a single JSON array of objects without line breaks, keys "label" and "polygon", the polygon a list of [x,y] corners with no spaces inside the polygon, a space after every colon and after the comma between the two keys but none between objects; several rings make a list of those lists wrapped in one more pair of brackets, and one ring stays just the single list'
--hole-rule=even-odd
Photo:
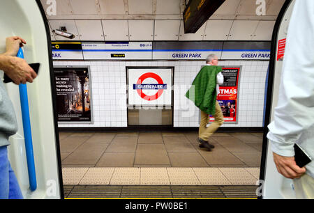
[{"label": "cream train door at left, behind the blue pole", "polygon": [[31,143],[27,142],[19,86],[8,83],[6,90],[17,116],[18,132],[10,137],[8,156],[24,198],[63,198],[59,134],[55,115],[54,75],[50,29],[40,1],[1,1],[0,52],[6,50],[6,37],[27,40],[24,59],[40,63],[38,77],[27,84]]}]

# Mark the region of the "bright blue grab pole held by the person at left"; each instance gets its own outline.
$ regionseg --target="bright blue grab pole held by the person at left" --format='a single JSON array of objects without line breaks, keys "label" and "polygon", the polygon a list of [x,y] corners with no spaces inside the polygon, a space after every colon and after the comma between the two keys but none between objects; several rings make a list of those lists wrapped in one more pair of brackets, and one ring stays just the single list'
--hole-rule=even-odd
[{"label": "bright blue grab pole held by the person at left", "polygon": [[[22,48],[17,53],[17,57],[24,58]],[[20,84],[20,102],[22,110],[25,150],[27,155],[27,170],[29,172],[29,189],[35,191],[37,189],[35,163],[33,160],[33,142],[31,139],[31,120],[29,119],[29,99],[27,96],[27,85]]]}]

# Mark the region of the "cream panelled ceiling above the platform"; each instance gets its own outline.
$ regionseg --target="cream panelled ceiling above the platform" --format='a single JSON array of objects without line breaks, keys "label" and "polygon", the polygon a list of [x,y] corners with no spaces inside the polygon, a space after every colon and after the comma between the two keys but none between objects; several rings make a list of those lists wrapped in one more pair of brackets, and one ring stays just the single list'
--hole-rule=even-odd
[{"label": "cream panelled ceiling above the platform", "polygon": [[[52,15],[52,1],[40,1],[51,30],[66,26],[75,40],[271,40],[285,2],[226,0],[197,33],[184,34],[185,0],[55,0]],[[67,39],[52,33],[52,40]]]}]

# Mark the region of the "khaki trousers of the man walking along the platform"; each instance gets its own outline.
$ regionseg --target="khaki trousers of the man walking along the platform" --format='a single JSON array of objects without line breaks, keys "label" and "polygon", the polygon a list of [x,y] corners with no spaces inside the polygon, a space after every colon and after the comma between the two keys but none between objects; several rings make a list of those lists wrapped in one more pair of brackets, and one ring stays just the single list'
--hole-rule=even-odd
[{"label": "khaki trousers of the man walking along the platform", "polygon": [[204,111],[201,111],[200,129],[198,131],[198,137],[204,141],[208,141],[209,137],[216,132],[216,130],[223,125],[223,111],[221,111],[220,105],[216,101],[216,112],[214,115],[215,121],[207,126],[209,123],[209,115]]}]

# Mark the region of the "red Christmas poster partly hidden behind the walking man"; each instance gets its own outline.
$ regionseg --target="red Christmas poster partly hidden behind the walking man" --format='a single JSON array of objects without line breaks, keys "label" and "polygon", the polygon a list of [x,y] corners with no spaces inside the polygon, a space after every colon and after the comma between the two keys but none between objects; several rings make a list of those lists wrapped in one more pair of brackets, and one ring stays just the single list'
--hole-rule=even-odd
[{"label": "red Christmas poster partly hidden behind the walking man", "polygon": [[[241,67],[223,68],[223,85],[219,86],[220,94],[217,101],[223,111],[225,123],[238,123],[238,92]],[[209,121],[214,121],[210,116]]]}]

